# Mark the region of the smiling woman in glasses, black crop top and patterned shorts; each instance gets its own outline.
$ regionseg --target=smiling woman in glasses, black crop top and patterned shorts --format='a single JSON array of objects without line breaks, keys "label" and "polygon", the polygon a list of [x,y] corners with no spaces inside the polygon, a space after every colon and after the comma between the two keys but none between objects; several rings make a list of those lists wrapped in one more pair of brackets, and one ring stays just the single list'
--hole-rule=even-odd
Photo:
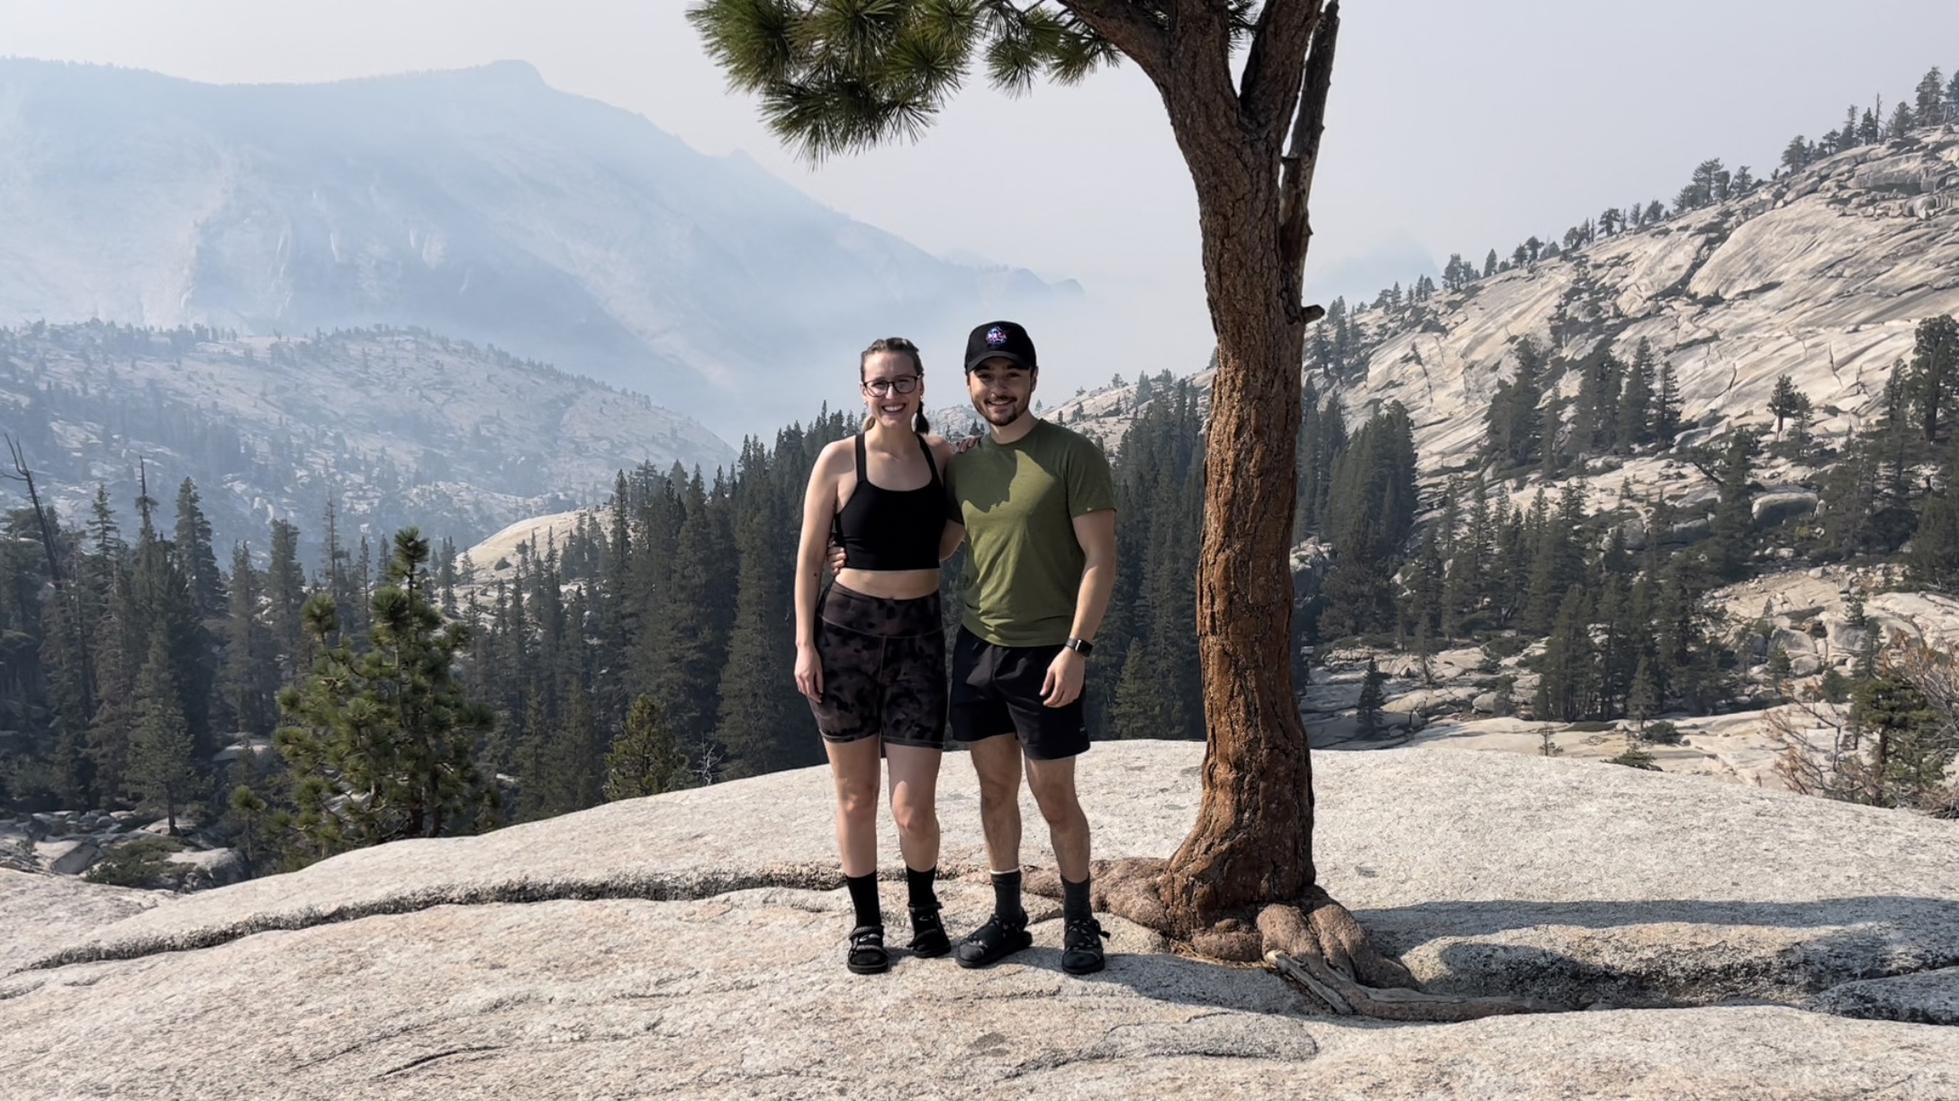
[{"label": "smiling woman in glasses, black crop top and patterned shorts", "polygon": [[[809,697],[836,782],[836,848],[856,909],[844,964],[891,966],[878,905],[878,756],[891,762],[891,819],[905,856],[911,950],[950,950],[938,919],[938,758],[946,746],[946,635],[938,558],[940,470],[952,447],[927,435],[925,362],[903,337],[858,359],[864,431],[823,449],[803,494],[795,554],[795,688]],[[835,533],[844,568],[821,586]]]}]

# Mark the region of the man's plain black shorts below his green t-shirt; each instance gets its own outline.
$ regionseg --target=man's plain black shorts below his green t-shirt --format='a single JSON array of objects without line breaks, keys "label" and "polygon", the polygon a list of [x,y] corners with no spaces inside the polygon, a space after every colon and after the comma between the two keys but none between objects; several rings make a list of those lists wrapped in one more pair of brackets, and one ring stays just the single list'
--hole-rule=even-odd
[{"label": "man's plain black shorts below his green t-shirt", "polygon": [[960,627],[952,643],[952,737],[962,742],[1019,735],[1034,760],[1060,760],[1089,748],[1087,707],[1075,695],[1066,707],[1040,701],[1054,646],[995,646]]}]

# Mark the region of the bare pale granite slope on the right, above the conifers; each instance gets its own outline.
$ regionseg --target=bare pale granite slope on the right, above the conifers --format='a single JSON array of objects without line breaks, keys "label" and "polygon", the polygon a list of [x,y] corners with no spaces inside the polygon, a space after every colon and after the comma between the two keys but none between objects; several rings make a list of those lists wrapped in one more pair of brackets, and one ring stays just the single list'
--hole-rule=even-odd
[{"label": "bare pale granite slope on the right, above the conifers", "polygon": [[[1869,417],[1924,317],[1959,311],[1959,127],[1820,161],[1745,196],[1477,280],[1418,327],[1375,321],[1365,378],[1334,392],[1350,421],[1385,402],[1414,417],[1428,472],[1475,462],[1483,411],[1518,337],[1583,359],[1673,364],[1687,423],[1773,425],[1789,374],[1841,437]],[[1565,378],[1565,394],[1577,386]],[[1689,433],[1685,443],[1695,443]]]}]

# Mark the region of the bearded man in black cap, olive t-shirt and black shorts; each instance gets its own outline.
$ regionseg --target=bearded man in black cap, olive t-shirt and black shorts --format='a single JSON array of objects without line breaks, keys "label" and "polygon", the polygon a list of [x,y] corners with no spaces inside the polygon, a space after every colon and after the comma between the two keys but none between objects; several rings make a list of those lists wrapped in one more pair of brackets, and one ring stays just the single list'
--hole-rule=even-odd
[{"label": "bearded man in black cap, olive t-shirt and black shorts", "polygon": [[1021,325],[989,321],[968,337],[966,390],[987,433],[946,464],[948,519],[968,547],[952,737],[980,774],[993,917],[954,958],[983,968],[1032,942],[1021,905],[1025,772],[1062,874],[1062,968],[1081,976],[1103,968],[1075,756],[1089,748],[1085,660],[1115,584],[1115,482],[1093,441],[1032,413],[1038,376]]}]

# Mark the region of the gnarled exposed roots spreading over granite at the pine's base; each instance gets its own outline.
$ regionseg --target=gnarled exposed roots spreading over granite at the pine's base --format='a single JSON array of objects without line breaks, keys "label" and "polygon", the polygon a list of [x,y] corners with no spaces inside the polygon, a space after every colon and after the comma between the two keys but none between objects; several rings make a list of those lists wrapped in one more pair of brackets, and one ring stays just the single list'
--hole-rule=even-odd
[{"label": "gnarled exposed roots spreading over granite at the pine's base", "polygon": [[[1307,897],[1271,903],[1256,915],[1218,915],[1203,929],[1177,929],[1158,891],[1168,860],[1097,860],[1095,909],[1177,936],[1213,960],[1260,962],[1303,987],[1330,1011],[1381,1021],[1475,1021],[1503,1013],[1552,1013],[1528,997],[1459,997],[1426,993],[1399,960],[1383,956],[1354,915],[1314,886]],[[1027,878],[1036,895],[1062,897],[1056,872]]]}]

